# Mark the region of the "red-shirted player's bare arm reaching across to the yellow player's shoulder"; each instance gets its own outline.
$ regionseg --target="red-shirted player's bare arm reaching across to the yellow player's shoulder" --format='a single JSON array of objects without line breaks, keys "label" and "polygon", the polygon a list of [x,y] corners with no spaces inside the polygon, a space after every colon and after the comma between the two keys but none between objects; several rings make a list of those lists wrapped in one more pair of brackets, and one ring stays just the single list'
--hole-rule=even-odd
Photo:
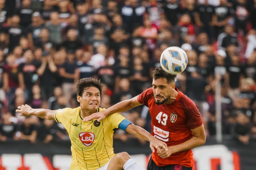
[{"label": "red-shirted player's bare arm reaching across to the yellow player's shoulder", "polygon": [[105,119],[105,117],[108,115],[111,115],[113,113],[125,112],[139,105],[142,105],[142,104],[138,102],[138,96],[136,96],[132,99],[128,99],[128,100],[124,100],[122,102],[116,103],[115,105],[101,112],[91,114],[90,116],[86,116],[84,117],[83,121],[90,121],[93,119],[97,119],[97,121],[100,122],[101,120]]}]

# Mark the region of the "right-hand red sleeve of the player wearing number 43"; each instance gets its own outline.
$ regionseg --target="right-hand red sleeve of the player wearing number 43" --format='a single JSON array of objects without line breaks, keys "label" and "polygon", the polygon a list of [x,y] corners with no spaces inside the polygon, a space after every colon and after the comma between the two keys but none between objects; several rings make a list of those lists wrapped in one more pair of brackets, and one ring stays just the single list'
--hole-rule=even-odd
[{"label": "right-hand red sleeve of the player wearing number 43", "polygon": [[195,129],[201,126],[203,124],[203,121],[197,105],[187,96],[184,96],[183,100],[187,126],[190,129]]}]

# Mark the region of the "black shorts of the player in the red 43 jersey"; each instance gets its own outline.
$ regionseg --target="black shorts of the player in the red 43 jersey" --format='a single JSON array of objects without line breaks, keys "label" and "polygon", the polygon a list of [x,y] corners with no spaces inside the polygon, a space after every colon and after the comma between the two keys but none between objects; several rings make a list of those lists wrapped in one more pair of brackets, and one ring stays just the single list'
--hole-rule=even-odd
[{"label": "black shorts of the player in the red 43 jersey", "polygon": [[192,167],[188,168],[181,165],[166,165],[163,167],[159,167],[152,160],[152,157],[150,157],[150,160],[147,164],[147,170],[192,170]]}]

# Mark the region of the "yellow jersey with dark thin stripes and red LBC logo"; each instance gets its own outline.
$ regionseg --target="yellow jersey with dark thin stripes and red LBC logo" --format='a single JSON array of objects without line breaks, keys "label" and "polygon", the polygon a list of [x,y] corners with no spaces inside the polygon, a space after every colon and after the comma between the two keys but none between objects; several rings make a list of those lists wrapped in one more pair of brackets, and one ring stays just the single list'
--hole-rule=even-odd
[{"label": "yellow jersey with dark thin stripes and red LBC logo", "polygon": [[[105,108],[98,108],[97,112]],[[71,140],[71,170],[95,170],[104,166],[115,155],[113,150],[114,129],[125,119],[112,114],[104,120],[83,122],[81,108],[58,109],[55,120],[62,123]]]}]

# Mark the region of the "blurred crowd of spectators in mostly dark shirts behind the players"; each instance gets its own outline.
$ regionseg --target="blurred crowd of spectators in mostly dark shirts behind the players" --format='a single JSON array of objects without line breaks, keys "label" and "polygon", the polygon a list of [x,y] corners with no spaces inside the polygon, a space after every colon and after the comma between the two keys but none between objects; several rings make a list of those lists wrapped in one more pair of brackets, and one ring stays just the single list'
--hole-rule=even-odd
[{"label": "blurred crowd of spectators in mostly dark shirts behind the players", "polygon": [[[0,141],[68,140],[60,123],[16,107],[77,107],[76,81],[94,77],[108,108],[151,87],[161,52],[179,46],[188,66],[176,86],[198,105],[207,136],[220,83],[223,134],[246,144],[256,138],[255,14],[256,0],[0,0]],[[147,107],[122,114],[151,131]]]}]

